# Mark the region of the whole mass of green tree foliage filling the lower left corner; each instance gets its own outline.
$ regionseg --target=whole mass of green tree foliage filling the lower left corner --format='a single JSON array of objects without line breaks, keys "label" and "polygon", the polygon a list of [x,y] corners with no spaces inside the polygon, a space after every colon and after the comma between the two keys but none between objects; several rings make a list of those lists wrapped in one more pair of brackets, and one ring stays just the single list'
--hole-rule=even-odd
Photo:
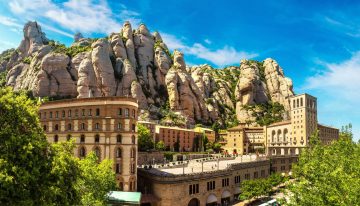
[{"label": "whole mass of green tree foliage filling the lower left corner", "polygon": [[38,107],[0,88],[0,205],[104,205],[115,189],[111,161],[74,154],[74,142],[49,144]]}]

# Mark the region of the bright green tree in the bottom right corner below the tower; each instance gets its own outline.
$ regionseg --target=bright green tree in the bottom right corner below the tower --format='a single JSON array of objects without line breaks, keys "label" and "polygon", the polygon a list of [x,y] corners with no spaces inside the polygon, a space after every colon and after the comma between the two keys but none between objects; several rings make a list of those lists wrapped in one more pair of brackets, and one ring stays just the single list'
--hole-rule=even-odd
[{"label": "bright green tree in the bottom right corner below the tower", "polygon": [[289,187],[287,205],[359,205],[360,145],[341,134],[331,145],[321,145],[318,134],[300,153],[293,167],[296,181]]}]

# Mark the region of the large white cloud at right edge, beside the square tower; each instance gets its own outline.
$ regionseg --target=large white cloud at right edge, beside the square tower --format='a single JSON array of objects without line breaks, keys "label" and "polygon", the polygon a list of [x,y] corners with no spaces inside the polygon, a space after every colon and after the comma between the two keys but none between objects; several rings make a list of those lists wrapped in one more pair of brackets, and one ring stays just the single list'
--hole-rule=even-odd
[{"label": "large white cloud at right edge, beside the square tower", "polygon": [[326,70],[307,78],[301,90],[319,97],[321,122],[338,128],[351,122],[355,139],[360,139],[360,51],[340,63],[317,63]]}]

